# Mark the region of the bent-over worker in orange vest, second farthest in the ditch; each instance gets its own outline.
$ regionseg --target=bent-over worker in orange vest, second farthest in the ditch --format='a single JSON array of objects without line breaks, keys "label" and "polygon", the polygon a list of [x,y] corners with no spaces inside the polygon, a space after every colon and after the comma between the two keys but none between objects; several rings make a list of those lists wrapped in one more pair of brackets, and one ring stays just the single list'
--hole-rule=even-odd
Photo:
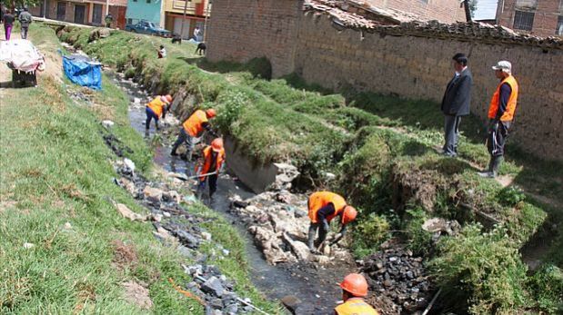
[{"label": "bent-over worker in orange vest, second farthest in the ditch", "polygon": [[207,131],[213,134],[216,137],[216,133],[211,130],[211,126],[209,124],[209,120],[216,116],[216,111],[213,108],[210,108],[206,111],[203,110],[196,110],[196,112],[192,113],[191,116],[182,124],[182,128],[180,129],[180,134],[178,135],[178,139],[176,143],[172,146],[172,155],[177,155],[176,150],[182,143],[187,144],[188,153],[191,153],[194,149],[194,138],[199,138]]}]

